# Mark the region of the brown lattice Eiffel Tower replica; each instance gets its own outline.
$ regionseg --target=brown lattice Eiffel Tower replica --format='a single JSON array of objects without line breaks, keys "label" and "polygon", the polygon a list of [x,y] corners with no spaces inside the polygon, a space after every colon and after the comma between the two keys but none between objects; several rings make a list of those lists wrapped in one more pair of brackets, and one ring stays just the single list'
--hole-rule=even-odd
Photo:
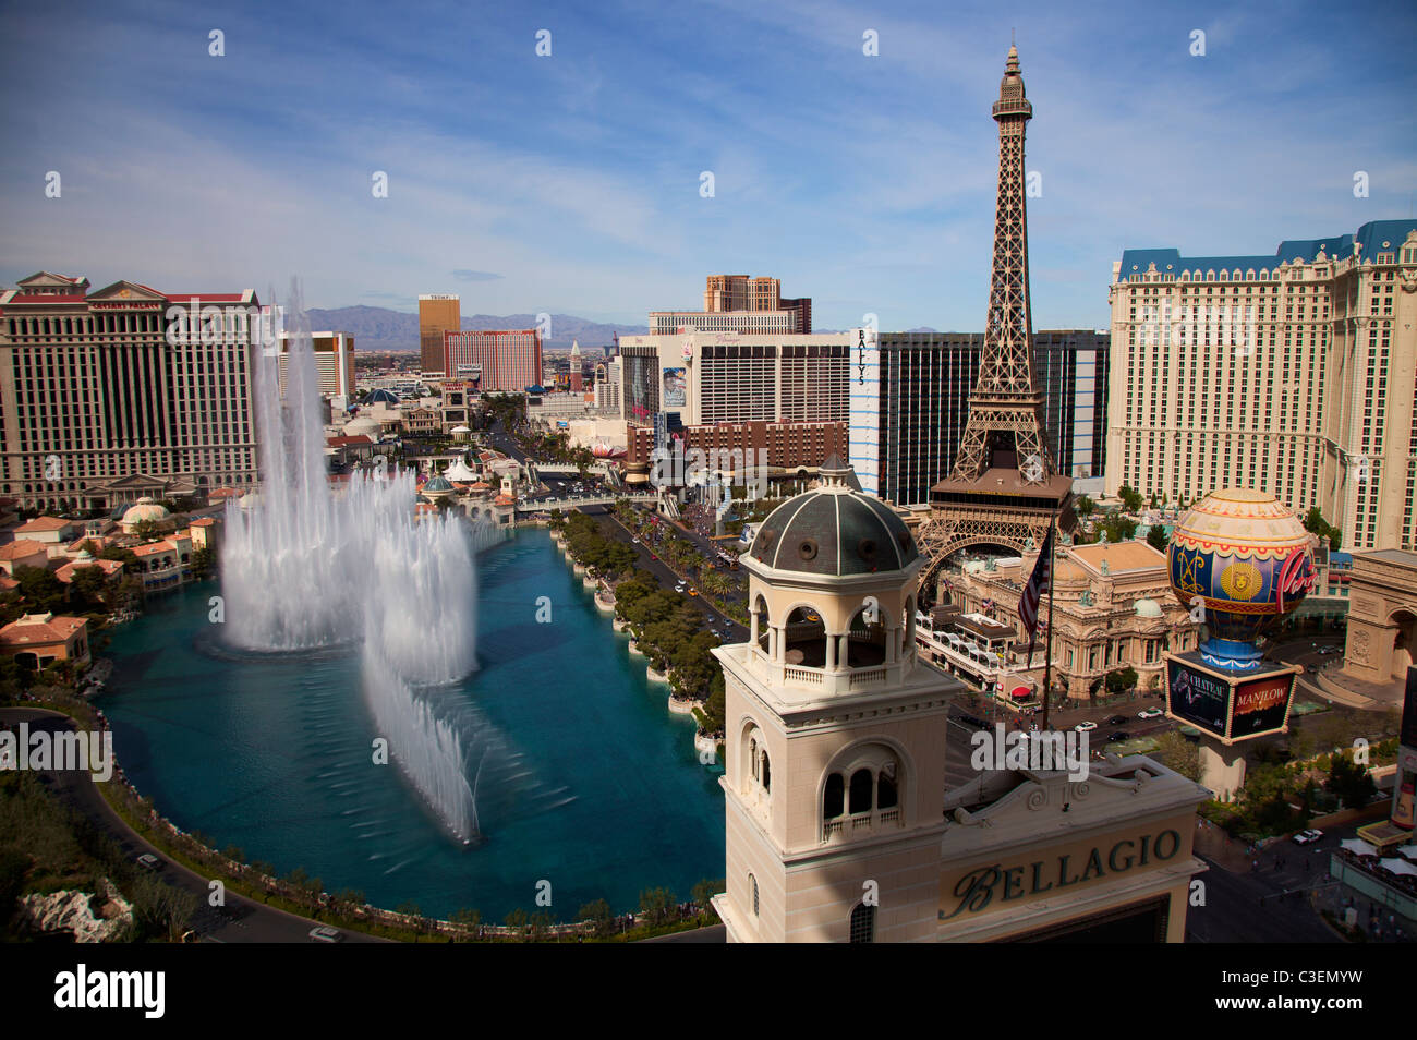
[{"label": "brown lattice Eiffel Tower replica", "polygon": [[999,201],[993,218],[993,276],[979,375],[969,394],[969,418],[948,477],[930,490],[930,517],[920,526],[920,551],[931,560],[921,587],[938,577],[945,558],[968,546],[1023,553],[1041,546],[1058,516],[1074,524],[1073,479],[1053,465],[1043,429],[1043,391],[1033,377],[1033,317],[1029,310],[1029,221],[1024,210],[1023,129],[1033,105],[1023,94],[1019,50],[993,103],[999,123]]}]

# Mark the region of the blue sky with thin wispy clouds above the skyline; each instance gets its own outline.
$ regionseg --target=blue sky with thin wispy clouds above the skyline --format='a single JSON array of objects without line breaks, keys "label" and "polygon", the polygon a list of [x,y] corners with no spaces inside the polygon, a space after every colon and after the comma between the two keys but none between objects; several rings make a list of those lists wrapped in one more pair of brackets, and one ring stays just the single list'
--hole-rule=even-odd
[{"label": "blue sky with thin wispy clouds above the skyline", "polygon": [[1010,28],[1043,188],[1037,327],[1105,327],[1124,248],[1270,254],[1413,213],[1408,1],[1083,11],[7,4],[0,281],[268,296],[295,275],[307,306],[458,292],[463,315],[643,323],[699,307],[707,273],[750,273],[811,296],[818,327],[976,330]]}]

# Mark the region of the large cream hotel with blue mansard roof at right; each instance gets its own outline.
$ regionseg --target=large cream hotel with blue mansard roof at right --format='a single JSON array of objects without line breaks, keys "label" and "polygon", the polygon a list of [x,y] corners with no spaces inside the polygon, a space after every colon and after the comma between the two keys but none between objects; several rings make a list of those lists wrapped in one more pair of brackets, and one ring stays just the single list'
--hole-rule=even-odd
[{"label": "large cream hotel with blue mansard roof at right", "polygon": [[1272,256],[1112,264],[1107,490],[1257,487],[1345,548],[1417,548],[1417,221]]}]

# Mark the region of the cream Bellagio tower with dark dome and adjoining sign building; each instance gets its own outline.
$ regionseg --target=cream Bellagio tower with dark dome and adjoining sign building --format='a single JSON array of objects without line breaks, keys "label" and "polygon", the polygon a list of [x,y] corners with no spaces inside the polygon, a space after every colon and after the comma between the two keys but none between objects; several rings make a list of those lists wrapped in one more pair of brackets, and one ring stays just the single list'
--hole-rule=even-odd
[{"label": "cream Bellagio tower with dark dome and adjoining sign building", "polygon": [[1139,755],[947,789],[965,687],[914,653],[925,560],[839,458],[820,472],[741,558],[748,642],[714,650],[728,939],[1182,942],[1209,792]]}]

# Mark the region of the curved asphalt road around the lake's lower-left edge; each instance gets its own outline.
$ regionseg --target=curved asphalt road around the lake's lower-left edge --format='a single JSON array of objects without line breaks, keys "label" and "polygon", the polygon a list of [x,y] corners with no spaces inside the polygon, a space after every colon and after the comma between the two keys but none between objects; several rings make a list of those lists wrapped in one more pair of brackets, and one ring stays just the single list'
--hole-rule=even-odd
[{"label": "curved asphalt road around the lake's lower-left edge", "polygon": [[[47,711],[44,708],[0,708],[0,721],[17,724],[28,723],[30,730],[45,730],[58,733],[72,731],[74,720],[67,716]],[[154,844],[142,837],[128,826],[123,819],[113,812],[112,806],[103,801],[86,771],[48,769],[40,775],[40,782],[64,802],[75,808],[98,826],[101,832],[112,837],[129,859],[136,859],[143,853],[153,853],[162,860],[160,877],[170,886],[183,888],[197,897],[198,911],[191,921],[191,929],[207,942],[310,942],[310,928],[319,921],[310,921],[283,910],[255,903],[242,895],[228,891],[225,907],[220,911],[210,907],[210,880],[188,870],[180,863],[174,863]],[[346,942],[387,942],[387,939],[364,935],[363,932],[343,931]]]}]

